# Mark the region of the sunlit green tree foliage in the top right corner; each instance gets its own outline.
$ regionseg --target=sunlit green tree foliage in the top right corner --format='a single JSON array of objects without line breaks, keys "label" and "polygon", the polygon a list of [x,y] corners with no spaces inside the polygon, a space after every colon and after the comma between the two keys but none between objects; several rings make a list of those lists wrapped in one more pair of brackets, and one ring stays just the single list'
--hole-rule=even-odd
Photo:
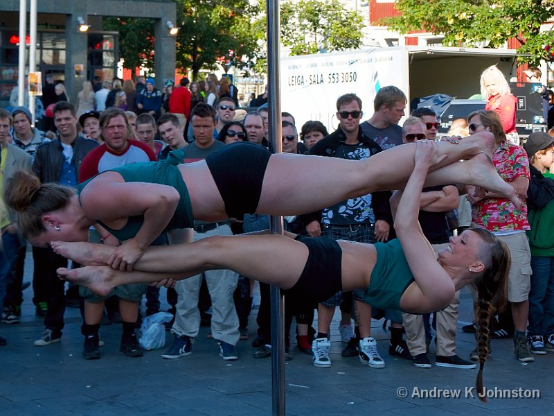
[{"label": "sunlit green tree foliage in the top right corner", "polygon": [[402,15],[383,19],[382,24],[400,33],[426,31],[445,36],[445,46],[503,47],[515,37],[522,62],[548,59],[545,47],[553,45],[554,32],[540,32],[540,24],[554,13],[553,0],[398,0]]}]

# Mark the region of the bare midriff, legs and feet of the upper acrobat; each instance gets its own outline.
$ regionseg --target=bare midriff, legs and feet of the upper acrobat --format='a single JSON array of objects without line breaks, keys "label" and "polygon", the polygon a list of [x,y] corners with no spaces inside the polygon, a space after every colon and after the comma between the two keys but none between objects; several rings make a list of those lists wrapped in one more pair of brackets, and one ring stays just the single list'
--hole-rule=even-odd
[{"label": "bare midriff, legs and feet of the upper acrobat", "polygon": [[[494,147],[494,137],[489,132],[465,137],[459,144],[438,142],[437,163],[429,169],[435,171],[436,175],[429,176],[425,186],[461,183],[458,172],[452,175],[451,171],[441,171],[441,168],[460,159],[471,159],[480,153],[492,157]],[[360,161],[272,155],[265,171],[256,212],[278,216],[305,214],[374,191],[404,189],[413,171],[414,153],[415,144],[404,144]],[[486,166],[481,166],[484,171],[479,169],[465,173],[468,183],[506,196],[519,206],[515,191],[506,186],[494,171],[490,159],[486,160],[484,156],[477,159]],[[391,164],[395,166],[393,171],[390,169]],[[206,163],[184,164],[179,168],[187,184],[196,219],[211,222],[226,218],[224,202]],[[384,172],[388,174],[383,175]],[[479,175],[474,177],[474,173]],[[306,180],[298,181],[298,177]]]}]

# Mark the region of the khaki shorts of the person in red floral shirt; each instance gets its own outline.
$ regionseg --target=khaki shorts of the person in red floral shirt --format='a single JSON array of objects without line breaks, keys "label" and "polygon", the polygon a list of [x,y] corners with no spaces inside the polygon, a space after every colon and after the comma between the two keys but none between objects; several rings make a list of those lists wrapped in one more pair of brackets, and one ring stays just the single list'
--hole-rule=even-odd
[{"label": "khaki shorts of the person in red floral shirt", "polygon": [[508,300],[510,302],[524,302],[529,298],[531,288],[531,251],[525,232],[509,235],[497,235],[500,241],[508,245],[512,263],[508,275]]}]

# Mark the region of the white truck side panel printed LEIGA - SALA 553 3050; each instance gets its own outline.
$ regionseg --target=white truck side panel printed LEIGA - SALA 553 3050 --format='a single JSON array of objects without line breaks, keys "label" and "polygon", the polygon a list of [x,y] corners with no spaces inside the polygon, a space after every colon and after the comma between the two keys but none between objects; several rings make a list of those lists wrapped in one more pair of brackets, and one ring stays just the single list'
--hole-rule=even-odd
[{"label": "white truck side panel printed LEIGA - SALA 553 3050", "polygon": [[306,121],[318,120],[329,132],[336,130],[337,98],[348,93],[361,98],[366,120],[381,87],[408,85],[407,54],[402,49],[292,56],[283,58],[280,68],[281,110],[295,117],[298,129]]}]

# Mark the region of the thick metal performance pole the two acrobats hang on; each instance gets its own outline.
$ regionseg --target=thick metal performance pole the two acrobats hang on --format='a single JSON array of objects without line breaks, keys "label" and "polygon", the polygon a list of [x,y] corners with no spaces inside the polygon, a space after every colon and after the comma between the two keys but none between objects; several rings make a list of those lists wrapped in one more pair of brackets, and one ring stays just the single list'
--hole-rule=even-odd
[{"label": "thick metal performance pole the two acrobats hang on", "polygon": [[[279,72],[279,1],[267,0],[267,76],[269,78],[269,138],[281,153],[281,104]],[[283,217],[271,216],[271,232],[283,234]],[[285,416],[285,304],[271,286],[271,410]]]}]

